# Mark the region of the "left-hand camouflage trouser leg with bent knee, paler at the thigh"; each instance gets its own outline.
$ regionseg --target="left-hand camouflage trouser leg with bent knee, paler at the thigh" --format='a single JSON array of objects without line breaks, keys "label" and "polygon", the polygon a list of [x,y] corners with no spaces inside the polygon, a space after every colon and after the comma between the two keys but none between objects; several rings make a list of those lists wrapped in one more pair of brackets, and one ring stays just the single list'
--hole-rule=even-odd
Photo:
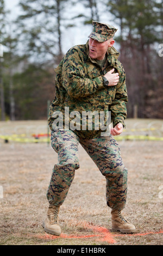
[{"label": "left-hand camouflage trouser leg with bent knee, paler at the thigh", "polygon": [[79,139],[72,131],[60,130],[52,132],[51,142],[58,153],[58,163],[53,168],[47,199],[50,204],[60,206],[67,196],[75,170],[79,168]]}]

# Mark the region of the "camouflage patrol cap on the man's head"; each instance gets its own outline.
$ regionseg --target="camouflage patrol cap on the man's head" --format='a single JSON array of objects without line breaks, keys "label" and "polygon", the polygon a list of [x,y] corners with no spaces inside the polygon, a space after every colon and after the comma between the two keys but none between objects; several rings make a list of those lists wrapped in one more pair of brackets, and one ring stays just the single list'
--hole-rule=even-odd
[{"label": "camouflage patrol cap on the man's head", "polygon": [[114,36],[117,29],[109,24],[101,23],[98,21],[92,21],[93,31],[88,36],[89,38],[95,39],[99,42],[109,40]]}]

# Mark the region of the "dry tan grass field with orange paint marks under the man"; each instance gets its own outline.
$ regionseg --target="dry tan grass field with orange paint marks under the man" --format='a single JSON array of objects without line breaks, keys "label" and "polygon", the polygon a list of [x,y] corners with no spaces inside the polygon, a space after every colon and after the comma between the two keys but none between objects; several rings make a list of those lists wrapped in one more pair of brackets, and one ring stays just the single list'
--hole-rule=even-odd
[{"label": "dry tan grass field with orange paint marks under the man", "polygon": [[[127,129],[139,127],[142,132],[141,128],[156,127],[154,136],[162,133],[162,120],[126,123]],[[34,126],[37,132],[47,132],[46,121],[0,122],[0,135],[32,133]],[[163,142],[133,139],[118,143],[128,168],[128,199],[122,213],[136,225],[135,234],[112,233],[105,178],[81,146],[80,168],[60,208],[62,234],[46,234],[41,223],[47,213],[46,191],[57,153],[47,143],[4,143],[0,139],[0,244],[163,245]]]}]

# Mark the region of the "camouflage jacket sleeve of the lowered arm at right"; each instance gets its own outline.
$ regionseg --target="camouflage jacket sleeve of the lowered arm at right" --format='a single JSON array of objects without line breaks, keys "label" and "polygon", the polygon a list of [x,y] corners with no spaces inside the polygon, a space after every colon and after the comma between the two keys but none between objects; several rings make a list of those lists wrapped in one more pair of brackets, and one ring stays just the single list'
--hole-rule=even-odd
[{"label": "camouflage jacket sleeve of the lowered arm at right", "polygon": [[127,88],[126,88],[126,74],[123,70],[120,80],[117,84],[115,100],[111,103],[109,110],[111,111],[111,121],[113,127],[118,123],[126,127],[124,120],[127,118],[126,103],[128,102]]}]

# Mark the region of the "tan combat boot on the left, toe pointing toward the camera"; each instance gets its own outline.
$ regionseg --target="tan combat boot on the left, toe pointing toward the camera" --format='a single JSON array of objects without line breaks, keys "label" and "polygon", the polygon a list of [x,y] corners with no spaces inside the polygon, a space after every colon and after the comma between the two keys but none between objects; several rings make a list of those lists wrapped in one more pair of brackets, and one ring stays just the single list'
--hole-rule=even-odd
[{"label": "tan combat boot on the left, toe pointing toward the camera", "polygon": [[60,206],[49,204],[47,218],[42,223],[42,227],[44,228],[44,230],[52,235],[61,234],[61,228],[58,224],[59,207]]}]

